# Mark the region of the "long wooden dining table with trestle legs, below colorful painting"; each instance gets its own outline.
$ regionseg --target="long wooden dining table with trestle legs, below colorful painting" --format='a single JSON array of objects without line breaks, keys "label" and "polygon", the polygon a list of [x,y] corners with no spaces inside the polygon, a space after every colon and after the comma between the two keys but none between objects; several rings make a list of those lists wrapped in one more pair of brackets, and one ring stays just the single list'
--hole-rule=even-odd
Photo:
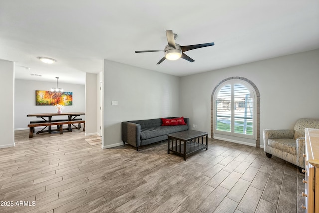
[{"label": "long wooden dining table with trestle legs, below colorful painting", "polygon": [[[53,116],[67,116],[68,117],[68,121],[72,121],[75,120],[78,116],[80,115],[85,115],[85,112],[62,112],[62,113],[34,113],[34,114],[27,114],[27,117],[37,117],[37,118],[41,118],[44,122],[52,122],[52,117]],[[64,120],[64,119],[63,119]],[[43,122],[42,121],[42,122]],[[80,124],[79,124],[80,125]],[[79,126],[81,127],[81,126]],[[41,131],[39,132],[52,132],[52,128],[51,126],[48,126],[47,131],[44,131],[46,127],[44,127]],[[71,124],[68,124],[68,130],[72,131],[72,127]]]}]

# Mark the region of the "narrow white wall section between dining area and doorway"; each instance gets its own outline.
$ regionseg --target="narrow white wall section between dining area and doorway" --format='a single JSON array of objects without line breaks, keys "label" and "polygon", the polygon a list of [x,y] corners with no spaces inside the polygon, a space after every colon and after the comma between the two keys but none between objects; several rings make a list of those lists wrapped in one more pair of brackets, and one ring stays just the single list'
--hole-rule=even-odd
[{"label": "narrow white wall section between dining area and doorway", "polygon": [[97,74],[86,73],[85,78],[85,135],[96,135],[97,132],[97,111],[96,105],[97,102]]}]

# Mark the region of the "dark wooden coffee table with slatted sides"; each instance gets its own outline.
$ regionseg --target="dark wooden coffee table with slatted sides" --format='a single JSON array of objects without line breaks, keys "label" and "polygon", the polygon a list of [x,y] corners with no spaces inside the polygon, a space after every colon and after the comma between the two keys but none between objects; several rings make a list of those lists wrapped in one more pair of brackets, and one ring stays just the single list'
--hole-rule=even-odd
[{"label": "dark wooden coffee table with slatted sides", "polygon": [[[168,154],[169,152],[173,152],[177,155],[180,155],[184,157],[184,161],[186,161],[186,157],[200,150],[208,149],[208,133],[207,132],[187,130],[187,131],[172,133],[167,136],[168,136]],[[206,144],[204,144],[204,137],[206,137]],[[201,138],[201,143],[199,142],[200,138]],[[197,142],[196,142],[196,139],[197,139]],[[170,143],[170,141],[172,141],[172,143]]]}]

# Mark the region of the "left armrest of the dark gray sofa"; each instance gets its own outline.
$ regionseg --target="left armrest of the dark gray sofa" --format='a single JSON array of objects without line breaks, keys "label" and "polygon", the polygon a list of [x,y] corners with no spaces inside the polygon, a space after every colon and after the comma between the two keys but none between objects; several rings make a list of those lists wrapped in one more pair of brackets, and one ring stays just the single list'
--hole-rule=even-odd
[{"label": "left armrest of the dark gray sofa", "polygon": [[122,141],[134,147],[141,146],[141,125],[122,122]]}]

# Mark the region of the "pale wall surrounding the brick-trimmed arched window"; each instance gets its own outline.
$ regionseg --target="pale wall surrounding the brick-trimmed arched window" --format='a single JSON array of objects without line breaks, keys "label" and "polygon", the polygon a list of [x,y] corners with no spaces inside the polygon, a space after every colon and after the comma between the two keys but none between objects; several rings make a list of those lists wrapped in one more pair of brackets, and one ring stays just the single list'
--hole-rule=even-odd
[{"label": "pale wall surrounding the brick-trimmed arched window", "polygon": [[[230,59],[231,60],[231,59]],[[180,82],[183,116],[195,130],[211,135],[211,95],[225,78],[251,80],[260,91],[260,144],[263,129],[292,129],[299,118],[319,118],[319,49],[185,76]],[[196,85],[196,86],[189,86]]]}]

